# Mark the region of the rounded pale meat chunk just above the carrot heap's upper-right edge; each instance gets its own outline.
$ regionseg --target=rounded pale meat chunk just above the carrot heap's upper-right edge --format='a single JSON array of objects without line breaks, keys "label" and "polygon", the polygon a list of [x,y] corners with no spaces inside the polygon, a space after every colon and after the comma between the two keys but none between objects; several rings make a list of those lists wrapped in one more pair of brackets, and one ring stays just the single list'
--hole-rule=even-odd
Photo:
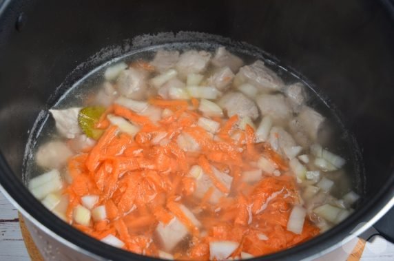
[{"label": "rounded pale meat chunk just above the carrot heap's upper-right edge", "polygon": [[227,116],[238,115],[240,118],[245,116],[253,120],[258,118],[256,104],[240,92],[229,92],[220,98],[218,105],[227,110]]}]

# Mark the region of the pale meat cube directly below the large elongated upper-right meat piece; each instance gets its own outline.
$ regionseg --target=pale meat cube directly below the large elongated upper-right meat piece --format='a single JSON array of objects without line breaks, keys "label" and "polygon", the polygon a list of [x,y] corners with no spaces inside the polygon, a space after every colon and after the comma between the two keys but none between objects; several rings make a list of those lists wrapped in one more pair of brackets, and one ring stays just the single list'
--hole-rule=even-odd
[{"label": "pale meat cube directly below the large elongated upper-right meat piece", "polygon": [[256,103],[263,116],[271,116],[273,123],[283,123],[291,116],[291,108],[282,94],[261,94]]}]

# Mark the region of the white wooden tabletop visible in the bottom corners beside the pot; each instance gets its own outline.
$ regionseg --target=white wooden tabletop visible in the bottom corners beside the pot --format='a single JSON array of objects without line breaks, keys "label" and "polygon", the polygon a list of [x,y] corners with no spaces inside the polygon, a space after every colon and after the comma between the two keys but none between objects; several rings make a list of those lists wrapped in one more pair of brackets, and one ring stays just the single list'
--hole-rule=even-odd
[{"label": "white wooden tabletop visible in the bottom corners beside the pot", "polygon": [[[28,251],[19,228],[17,209],[0,193],[0,260],[27,261]],[[394,244],[382,238],[367,242],[361,260],[392,261]],[[335,260],[340,261],[340,260]]]}]

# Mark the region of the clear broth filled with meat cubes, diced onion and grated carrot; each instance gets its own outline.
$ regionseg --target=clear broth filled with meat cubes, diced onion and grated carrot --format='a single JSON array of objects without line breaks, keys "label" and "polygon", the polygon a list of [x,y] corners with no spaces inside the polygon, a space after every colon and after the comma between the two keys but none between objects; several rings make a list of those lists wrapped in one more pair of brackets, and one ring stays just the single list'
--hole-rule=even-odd
[{"label": "clear broth filled with meat cubes, diced onion and grated carrot", "polygon": [[135,52],[87,74],[51,114],[28,163],[30,191],[135,253],[265,255],[330,229],[359,198],[335,114],[298,77],[243,50]]}]

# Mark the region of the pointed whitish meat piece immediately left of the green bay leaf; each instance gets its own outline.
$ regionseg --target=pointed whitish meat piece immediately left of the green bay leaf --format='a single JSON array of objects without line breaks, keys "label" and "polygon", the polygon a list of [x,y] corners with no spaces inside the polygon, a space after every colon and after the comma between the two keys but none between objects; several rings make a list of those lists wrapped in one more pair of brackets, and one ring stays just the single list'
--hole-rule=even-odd
[{"label": "pointed whitish meat piece immediately left of the green bay leaf", "polygon": [[75,138],[82,133],[78,124],[78,114],[81,108],[72,107],[70,109],[50,109],[56,129],[65,138]]}]

